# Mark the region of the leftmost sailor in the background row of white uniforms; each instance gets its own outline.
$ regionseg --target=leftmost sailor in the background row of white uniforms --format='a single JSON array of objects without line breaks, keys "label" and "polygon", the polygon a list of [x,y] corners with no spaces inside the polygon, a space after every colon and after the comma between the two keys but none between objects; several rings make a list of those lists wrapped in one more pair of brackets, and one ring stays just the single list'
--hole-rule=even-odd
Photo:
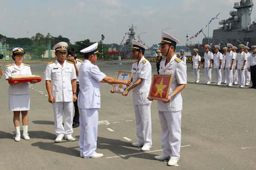
[{"label": "leftmost sailor in the background row of white uniforms", "polygon": [[192,69],[194,74],[194,83],[199,83],[200,78],[200,64],[201,64],[201,57],[198,55],[198,49],[194,48],[194,56],[192,57]]}]

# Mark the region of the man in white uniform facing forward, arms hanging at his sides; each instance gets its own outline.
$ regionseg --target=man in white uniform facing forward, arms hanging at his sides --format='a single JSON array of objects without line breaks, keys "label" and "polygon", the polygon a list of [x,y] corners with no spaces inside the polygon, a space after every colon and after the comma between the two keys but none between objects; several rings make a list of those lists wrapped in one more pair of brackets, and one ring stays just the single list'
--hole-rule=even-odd
[{"label": "man in white uniform facing forward, arms hanging at his sides", "polygon": [[[49,94],[48,101],[52,103],[54,113],[54,127],[57,135],[55,142],[60,142],[63,137],[69,141],[75,140],[72,137],[72,117],[73,102],[77,100],[76,70],[72,62],[65,61],[67,47],[66,42],[59,42],[53,46],[57,59],[48,63],[45,71],[46,89]],[[64,126],[62,125],[63,114]]]}]

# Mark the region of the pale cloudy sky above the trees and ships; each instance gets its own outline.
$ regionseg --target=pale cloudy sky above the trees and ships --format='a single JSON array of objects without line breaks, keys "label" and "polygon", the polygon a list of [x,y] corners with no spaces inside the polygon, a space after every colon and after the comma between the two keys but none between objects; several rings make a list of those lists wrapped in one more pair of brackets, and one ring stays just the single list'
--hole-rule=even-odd
[{"label": "pale cloudy sky above the trees and ships", "polygon": [[[103,34],[103,43],[120,44],[133,23],[137,26],[136,33],[146,32],[140,37],[148,46],[161,41],[161,31],[165,28],[171,28],[164,31],[185,45],[186,34],[193,36],[221,13],[220,19],[210,24],[211,36],[212,30],[220,27],[219,21],[230,16],[234,2],[240,0],[0,0],[0,34],[27,37],[28,29],[28,37],[38,32],[45,36],[50,33],[67,37],[72,43],[88,38],[99,41]],[[252,21],[255,16],[253,9]],[[203,32],[207,36],[208,29]],[[202,42],[203,37],[201,33],[192,42]]]}]

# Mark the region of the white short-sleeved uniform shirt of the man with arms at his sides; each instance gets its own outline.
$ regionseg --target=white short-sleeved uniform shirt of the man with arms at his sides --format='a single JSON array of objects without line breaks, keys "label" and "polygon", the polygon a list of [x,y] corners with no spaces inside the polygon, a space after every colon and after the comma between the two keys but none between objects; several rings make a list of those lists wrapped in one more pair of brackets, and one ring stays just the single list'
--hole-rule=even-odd
[{"label": "white short-sleeved uniform shirt of the man with arms at his sides", "polygon": [[73,63],[65,61],[63,67],[57,60],[48,63],[45,71],[45,80],[52,81],[52,95],[54,102],[72,102],[73,89],[71,80],[76,79],[76,70]]}]

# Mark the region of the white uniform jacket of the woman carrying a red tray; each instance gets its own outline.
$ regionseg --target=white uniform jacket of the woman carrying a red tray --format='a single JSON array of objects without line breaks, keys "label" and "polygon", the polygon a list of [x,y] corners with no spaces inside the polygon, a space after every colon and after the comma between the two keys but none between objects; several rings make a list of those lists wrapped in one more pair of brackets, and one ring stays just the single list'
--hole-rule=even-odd
[{"label": "white uniform jacket of the woman carrying a red tray", "polygon": [[[9,76],[26,76],[32,75],[30,66],[27,64],[21,64],[20,68],[15,64],[7,65],[5,67],[5,79],[7,80]],[[8,94],[29,94],[29,82],[17,83],[16,85],[10,85],[8,89]]]}]

